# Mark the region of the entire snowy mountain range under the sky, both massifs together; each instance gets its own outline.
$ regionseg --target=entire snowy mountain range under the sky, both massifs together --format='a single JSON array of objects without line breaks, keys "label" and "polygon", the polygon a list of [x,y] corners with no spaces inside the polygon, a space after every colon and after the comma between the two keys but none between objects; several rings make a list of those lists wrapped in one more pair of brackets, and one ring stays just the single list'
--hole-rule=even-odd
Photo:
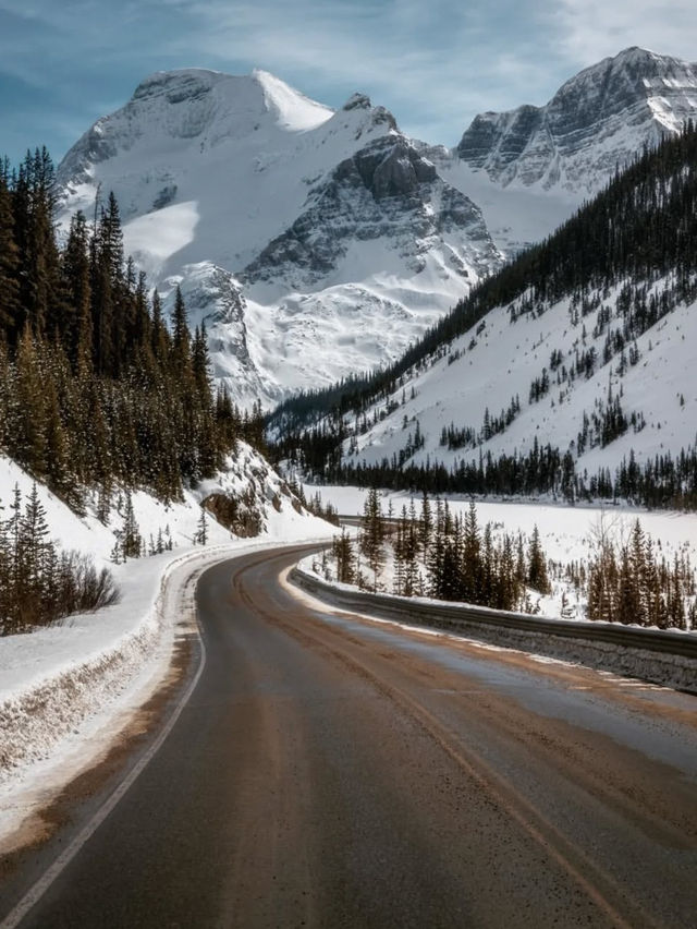
[{"label": "entire snowy mountain range under the sky, both massifs together", "polygon": [[477,117],[453,149],[363,94],[333,111],[264,71],[158,72],[68,153],[60,219],[113,190],[126,253],[166,306],[182,287],[216,376],[270,405],[394,361],[696,112],[695,68],[641,49]]}]

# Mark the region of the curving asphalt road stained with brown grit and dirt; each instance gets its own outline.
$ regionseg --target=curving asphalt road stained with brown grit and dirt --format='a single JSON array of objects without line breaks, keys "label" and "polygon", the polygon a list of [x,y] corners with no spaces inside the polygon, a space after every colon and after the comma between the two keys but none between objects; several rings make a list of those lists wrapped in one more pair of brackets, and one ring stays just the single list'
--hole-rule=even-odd
[{"label": "curving asphalt road stained with brown grit and dirt", "polygon": [[325,615],[296,558],[201,576],[198,684],[22,926],[697,926],[697,698]]}]

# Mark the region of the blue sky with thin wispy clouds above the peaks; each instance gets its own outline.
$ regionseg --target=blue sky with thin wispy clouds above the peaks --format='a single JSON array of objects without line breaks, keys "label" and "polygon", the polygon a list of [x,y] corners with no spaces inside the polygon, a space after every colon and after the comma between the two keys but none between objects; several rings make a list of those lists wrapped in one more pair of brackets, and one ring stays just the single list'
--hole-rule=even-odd
[{"label": "blue sky with thin wispy clouds above the peaks", "polygon": [[362,91],[453,145],[631,45],[697,59],[694,0],[0,0],[0,154],[59,160],[144,76],[193,65],[259,67],[333,107]]}]

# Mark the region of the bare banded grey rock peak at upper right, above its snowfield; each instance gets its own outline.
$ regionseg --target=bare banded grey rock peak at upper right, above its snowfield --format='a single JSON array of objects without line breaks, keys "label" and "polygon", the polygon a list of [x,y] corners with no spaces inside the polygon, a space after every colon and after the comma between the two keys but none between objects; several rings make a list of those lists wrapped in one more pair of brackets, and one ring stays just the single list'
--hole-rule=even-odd
[{"label": "bare banded grey rock peak at upper right, above its snowfield", "polygon": [[628,48],[576,74],[543,107],[477,116],[456,152],[503,186],[592,192],[696,113],[694,64]]}]

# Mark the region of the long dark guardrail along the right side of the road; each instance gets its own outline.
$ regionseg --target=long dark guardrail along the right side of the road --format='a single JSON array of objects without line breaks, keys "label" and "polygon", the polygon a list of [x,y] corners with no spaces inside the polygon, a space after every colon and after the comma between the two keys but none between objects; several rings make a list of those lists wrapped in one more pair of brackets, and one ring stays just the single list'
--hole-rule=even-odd
[{"label": "long dark guardrail along the right side of the road", "polygon": [[592,644],[604,643],[625,649],[639,649],[655,655],[687,659],[695,664],[694,686],[697,688],[697,635],[671,630],[599,624],[582,620],[550,619],[526,613],[508,613],[484,606],[453,603],[419,603],[406,596],[390,596],[364,591],[347,591],[314,575],[293,568],[291,580],[322,600],[355,612],[375,612],[380,617],[400,622],[417,622],[448,631],[472,631],[470,627],[486,626],[491,630],[506,629],[533,632],[538,636],[572,639]]}]

